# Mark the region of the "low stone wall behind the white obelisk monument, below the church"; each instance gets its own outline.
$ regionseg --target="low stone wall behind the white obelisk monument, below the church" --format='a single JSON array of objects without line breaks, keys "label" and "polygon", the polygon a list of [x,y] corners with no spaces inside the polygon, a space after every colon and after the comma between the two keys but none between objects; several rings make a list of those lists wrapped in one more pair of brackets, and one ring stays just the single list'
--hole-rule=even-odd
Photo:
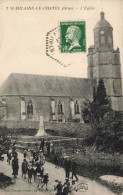
[{"label": "low stone wall behind the white obelisk monument, below the church", "polygon": [[[14,134],[35,135],[39,129],[37,121],[1,121],[0,128],[7,129]],[[48,135],[64,137],[88,137],[93,132],[89,124],[79,122],[44,122],[44,128]]]}]

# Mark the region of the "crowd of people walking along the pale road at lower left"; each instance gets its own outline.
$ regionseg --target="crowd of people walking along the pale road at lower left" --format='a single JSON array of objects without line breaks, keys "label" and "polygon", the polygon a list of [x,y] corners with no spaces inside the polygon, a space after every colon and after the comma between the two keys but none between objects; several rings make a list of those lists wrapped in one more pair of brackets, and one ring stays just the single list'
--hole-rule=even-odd
[{"label": "crowd of people walking along the pale road at lower left", "polygon": [[[11,148],[7,152],[7,161],[8,164],[12,165],[12,175],[14,178],[17,178],[19,170],[19,159],[18,153],[16,151],[16,142],[13,143]],[[44,151],[46,147],[46,151]],[[45,154],[46,152],[46,154]],[[40,146],[37,144],[33,148],[28,148],[23,151],[23,162],[21,164],[22,177],[28,179],[29,183],[36,182],[37,189],[43,188],[48,190],[49,174],[44,169],[45,164],[45,155],[50,156],[51,153],[51,142],[49,140],[41,140]],[[60,157],[56,153],[54,155],[54,164],[55,168],[59,168]],[[64,160],[64,169],[65,169],[65,182],[62,184],[58,179],[55,180],[54,192],[56,195],[68,195],[72,194],[72,190],[76,190],[74,185],[78,180],[76,175],[77,165],[74,160],[72,162],[69,158]],[[70,177],[70,172],[72,175]],[[74,178],[75,177],[75,178]],[[71,179],[71,184],[70,184]],[[76,179],[76,180],[74,180]]]}]

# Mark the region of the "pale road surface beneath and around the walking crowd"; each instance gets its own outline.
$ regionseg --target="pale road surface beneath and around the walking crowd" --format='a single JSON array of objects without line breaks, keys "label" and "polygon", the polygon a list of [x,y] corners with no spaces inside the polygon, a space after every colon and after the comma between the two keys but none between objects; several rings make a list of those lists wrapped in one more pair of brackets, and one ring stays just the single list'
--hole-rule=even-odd
[{"label": "pale road surface beneath and around the walking crowd", "polygon": [[[37,194],[37,195],[52,195],[54,194],[53,191],[53,184],[55,179],[59,179],[62,183],[65,181],[65,171],[63,168],[56,169],[55,166],[49,162],[46,162],[44,165],[44,170],[45,172],[49,173],[49,183],[48,183],[48,191],[44,189],[36,190],[37,184],[34,183],[32,179],[32,183],[28,183],[28,179],[24,179],[21,175],[21,163],[23,160],[23,155],[21,153],[18,153],[18,158],[19,158],[19,174],[18,177],[16,178],[16,182],[13,185],[10,185],[6,187],[4,190],[0,189],[0,193],[2,195],[4,194],[17,194],[17,193],[22,193],[23,195],[26,194]],[[0,172],[4,173],[7,176],[13,177],[12,176],[12,168],[11,165],[8,164],[6,161],[6,155],[5,155],[5,160],[0,161]],[[79,181],[76,182],[76,185],[81,183],[82,180],[86,180],[88,184],[88,190],[79,190],[78,192],[75,192],[75,195],[113,195],[114,193],[108,190],[106,187],[98,184],[95,181],[91,181],[89,179],[85,179],[81,176],[78,177]],[[70,180],[71,182],[71,180]]]}]

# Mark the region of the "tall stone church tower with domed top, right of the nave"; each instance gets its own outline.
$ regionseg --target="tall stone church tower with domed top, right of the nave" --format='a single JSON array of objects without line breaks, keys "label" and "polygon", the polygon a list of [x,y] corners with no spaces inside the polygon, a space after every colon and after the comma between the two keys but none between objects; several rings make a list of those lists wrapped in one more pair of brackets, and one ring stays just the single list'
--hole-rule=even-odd
[{"label": "tall stone church tower with domed top, right of the nave", "polygon": [[103,79],[113,110],[123,111],[119,49],[113,48],[113,28],[104,12],[94,27],[94,45],[88,49],[88,78]]}]

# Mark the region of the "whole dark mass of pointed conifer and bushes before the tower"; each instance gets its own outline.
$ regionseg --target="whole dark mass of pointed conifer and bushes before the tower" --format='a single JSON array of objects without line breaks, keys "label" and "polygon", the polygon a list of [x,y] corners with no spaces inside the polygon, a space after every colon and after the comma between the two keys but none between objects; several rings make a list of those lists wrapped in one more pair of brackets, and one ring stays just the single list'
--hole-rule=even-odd
[{"label": "whole dark mass of pointed conifer and bushes before the tower", "polygon": [[86,144],[105,152],[122,152],[122,114],[110,108],[103,80],[99,80],[93,101],[85,100],[82,106],[85,123],[91,123],[95,131]]}]

